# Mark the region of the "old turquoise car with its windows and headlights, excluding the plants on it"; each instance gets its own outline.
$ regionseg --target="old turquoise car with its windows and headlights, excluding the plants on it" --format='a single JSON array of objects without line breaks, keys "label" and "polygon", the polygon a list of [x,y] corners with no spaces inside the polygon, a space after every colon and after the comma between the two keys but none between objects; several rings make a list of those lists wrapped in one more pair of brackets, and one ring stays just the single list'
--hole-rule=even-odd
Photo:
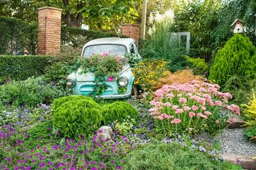
[{"label": "old turquoise car with its windows and headlights, excluding the plants on it", "polygon": [[[124,56],[127,53],[139,56],[138,49],[134,39],[132,38],[99,38],[91,40],[82,48],[81,57],[91,57],[93,54],[109,54],[113,56]],[[140,57],[140,56],[139,56]],[[81,74],[81,68],[77,72],[73,72],[67,78],[66,84],[72,94],[88,95],[92,94],[96,86],[93,72]],[[103,99],[129,98],[132,95],[138,95],[139,89],[134,85],[134,76],[132,68],[126,64],[119,73],[119,77],[113,81],[107,81],[106,89],[103,93],[96,96]],[[126,92],[118,94],[119,87],[126,87]]]}]

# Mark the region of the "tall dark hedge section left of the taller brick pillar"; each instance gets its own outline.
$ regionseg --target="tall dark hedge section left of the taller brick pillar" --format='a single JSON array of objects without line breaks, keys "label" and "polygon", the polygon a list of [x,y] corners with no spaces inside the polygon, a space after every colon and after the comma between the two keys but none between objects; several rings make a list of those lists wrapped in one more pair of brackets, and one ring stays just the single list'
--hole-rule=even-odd
[{"label": "tall dark hedge section left of the taller brick pillar", "polygon": [[36,54],[37,23],[0,16],[0,55]]}]

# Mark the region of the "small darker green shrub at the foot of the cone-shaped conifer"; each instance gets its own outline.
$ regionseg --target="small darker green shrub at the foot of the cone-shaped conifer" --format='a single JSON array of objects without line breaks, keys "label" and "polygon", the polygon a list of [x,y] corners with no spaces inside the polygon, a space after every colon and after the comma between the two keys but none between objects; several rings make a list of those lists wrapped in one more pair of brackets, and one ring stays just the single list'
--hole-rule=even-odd
[{"label": "small darker green shrub at the foot of the cone-shaped conifer", "polygon": [[223,86],[223,91],[230,92],[232,102],[237,105],[248,103],[252,90],[256,90],[256,80],[250,80],[245,76],[231,76]]}]

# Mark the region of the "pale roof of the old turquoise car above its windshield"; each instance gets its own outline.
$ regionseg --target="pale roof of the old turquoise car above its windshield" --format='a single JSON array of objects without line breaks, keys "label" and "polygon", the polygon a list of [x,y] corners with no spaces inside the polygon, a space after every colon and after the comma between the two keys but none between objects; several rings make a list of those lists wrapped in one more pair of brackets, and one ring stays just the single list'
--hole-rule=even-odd
[{"label": "pale roof of the old turquoise car above its windshield", "polygon": [[132,38],[118,38],[118,37],[109,37],[109,38],[98,38],[87,42],[84,47],[96,44],[123,44],[127,47],[134,42]]}]

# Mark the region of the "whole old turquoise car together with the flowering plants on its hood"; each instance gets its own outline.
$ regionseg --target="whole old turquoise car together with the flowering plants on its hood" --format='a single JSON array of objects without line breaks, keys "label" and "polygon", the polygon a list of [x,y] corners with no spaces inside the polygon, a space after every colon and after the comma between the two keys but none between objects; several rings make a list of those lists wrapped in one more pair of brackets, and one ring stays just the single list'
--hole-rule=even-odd
[{"label": "whole old turquoise car together with the flowering plants on its hood", "polygon": [[95,39],[84,45],[81,56],[81,66],[66,81],[71,93],[93,94],[103,99],[129,98],[138,94],[129,56],[136,61],[141,57],[133,39]]}]

